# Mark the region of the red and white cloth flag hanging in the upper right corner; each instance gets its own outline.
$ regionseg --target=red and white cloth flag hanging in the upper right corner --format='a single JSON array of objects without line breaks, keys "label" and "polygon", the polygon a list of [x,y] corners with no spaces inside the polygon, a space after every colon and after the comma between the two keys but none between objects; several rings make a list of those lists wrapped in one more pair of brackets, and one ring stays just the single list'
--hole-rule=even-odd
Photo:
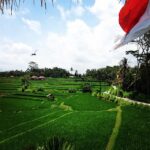
[{"label": "red and white cloth flag hanging in the upper right corner", "polygon": [[126,34],[115,49],[150,30],[150,0],[127,0],[120,10],[119,24]]}]

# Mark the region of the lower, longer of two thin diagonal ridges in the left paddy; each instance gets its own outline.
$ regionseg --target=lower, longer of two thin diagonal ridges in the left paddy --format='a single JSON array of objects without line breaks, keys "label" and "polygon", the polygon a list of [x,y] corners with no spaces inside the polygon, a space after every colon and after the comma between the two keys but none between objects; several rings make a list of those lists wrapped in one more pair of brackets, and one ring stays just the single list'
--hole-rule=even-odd
[{"label": "lower, longer of two thin diagonal ridges in the left paddy", "polygon": [[65,113],[64,115],[61,115],[61,116],[59,116],[59,117],[57,117],[57,118],[55,118],[55,119],[52,119],[52,120],[50,120],[50,121],[48,121],[48,122],[42,123],[42,124],[40,124],[40,125],[38,125],[38,126],[36,126],[36,127],[33,127],[33,128],[28,129],[28,130],[26,130],[26,131],[23,131],[23,132],[20,132],[20,133],[18,133],[18,134],[16,134],[16,135],[13,135],[13,136],[11,136],[11,137],[9,137],[9,138],[6,138],[6,139],[0,141],[0,144],[3,144],[3,143],[8,142],[8,141],[10,141],[10,140],[13,140],[13,139],[15,139],[15,138],[17,138],[17,137],[19,137],[19,136],[22,136],[22,135],[24,135],[24,134],[26,134],[26,133],[29,133],[29,132],[33,131],[33,130],[36,130],[36,129],[38,129],[38,128],[41,128],[41,127],[43,127],[43,126],[45,126],[45,125],[48,125],[48,124],[50,124],[50,123],[52,123],[52,122],[55,122],[56,120],[58,120],[58,119],[60,119],[60,118],[63,118],[63,117],[65,117],[65,116],[70,115],[71,113],[73,113],[73,112]]}]

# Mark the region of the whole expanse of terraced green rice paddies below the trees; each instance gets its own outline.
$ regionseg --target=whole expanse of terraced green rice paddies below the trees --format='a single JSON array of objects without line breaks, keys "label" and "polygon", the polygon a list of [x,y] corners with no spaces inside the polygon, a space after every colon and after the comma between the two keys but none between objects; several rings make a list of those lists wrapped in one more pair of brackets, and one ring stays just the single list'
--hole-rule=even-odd
[{"label": "whole expanse of terraced green rice paddies below the trees", "polygon": [[[0,78],[0,150],[40,149],[34,147],[54,136],[74,150],[150,150],[149,108],[104,101],[82,93],[82,84],[48,78],[22,92],[20,78]],[[91,84],[99,89],[99,82]],[[50,93],[55,101],[46,97]]]}]

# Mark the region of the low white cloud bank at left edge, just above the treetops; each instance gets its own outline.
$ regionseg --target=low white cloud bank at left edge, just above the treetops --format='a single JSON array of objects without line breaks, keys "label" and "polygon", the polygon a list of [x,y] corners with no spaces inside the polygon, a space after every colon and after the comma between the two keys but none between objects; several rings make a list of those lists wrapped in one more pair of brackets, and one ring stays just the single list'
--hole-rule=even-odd
[{"label": "low white cloud bank at left edge, just above the treetops", "polygon": [[11,40],[0,41],[0,70],[27,69],[32,47]]}]

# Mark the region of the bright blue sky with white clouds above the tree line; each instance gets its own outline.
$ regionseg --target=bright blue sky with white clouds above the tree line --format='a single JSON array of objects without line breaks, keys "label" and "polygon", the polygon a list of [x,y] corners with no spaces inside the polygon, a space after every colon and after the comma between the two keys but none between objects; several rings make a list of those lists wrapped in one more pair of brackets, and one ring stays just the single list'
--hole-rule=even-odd
[{"label": "bright blue sky with white clouds above the tree line", "polygon": [[[0,70],[39,67],[86,69],[117,65],[126,47],[111,51],[123,34],[118,24],[118,0],[55,0],[47,9],[32,1],[0,15]],[[37,51],[37,56],[30,54]],[[133,59],[129,58],[131,64]]]}]

